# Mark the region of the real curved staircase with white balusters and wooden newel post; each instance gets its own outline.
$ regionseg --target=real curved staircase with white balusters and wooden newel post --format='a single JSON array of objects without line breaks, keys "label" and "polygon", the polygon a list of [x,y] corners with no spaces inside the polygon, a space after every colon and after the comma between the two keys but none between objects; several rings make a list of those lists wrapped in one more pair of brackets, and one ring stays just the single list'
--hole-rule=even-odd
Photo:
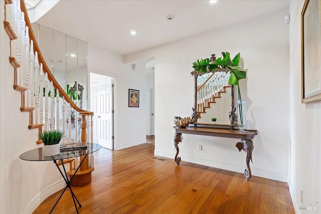
[{"label": "real curved staircase with white balusters and wooden newel post", "polygon": [[[61,143],[80,140],[93,143],[93,112],[79,108],[50,72],[36,42],[24,0],[5,0],[4,28],[10,37],[8,58],[14,70],[13,88],[21,92],[20,110],[29,113],[26,126],[38,129],[38,133],[43,130],[62,130],[66,134]],[[71,138],[71,122],[67,123],[67,120],[71,121],[71,112],[75,112],[75,121],[78,121],[78,116],[81,118],[81,139],[78,139],[77,122],[75,139]],[[36,143],[41,144],[42,141],[38,138]],[[64,163],[70,162],[72,171],[82,159],[83,156],[64,160]],[[90,183],[93,170],[93,156],[87,156],[72,185]]]}]

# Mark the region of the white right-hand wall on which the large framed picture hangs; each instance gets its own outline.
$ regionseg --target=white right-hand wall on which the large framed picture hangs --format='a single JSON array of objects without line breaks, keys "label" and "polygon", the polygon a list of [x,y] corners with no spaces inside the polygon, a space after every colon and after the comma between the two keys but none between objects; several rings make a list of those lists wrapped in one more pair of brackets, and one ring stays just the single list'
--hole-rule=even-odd
[{"label": "white right-hand wall on which the large framed picture hangs", "polygon": [[[301,21],[304,1],[290,3],[290,180],[289,188],[297,213],[321,210],[321,102],[301,103]],[[300,188],[303,190],[301,203]],[[316,203],[318,202],[318,203]],[[311,204],[316,210],[302,210]]]}]

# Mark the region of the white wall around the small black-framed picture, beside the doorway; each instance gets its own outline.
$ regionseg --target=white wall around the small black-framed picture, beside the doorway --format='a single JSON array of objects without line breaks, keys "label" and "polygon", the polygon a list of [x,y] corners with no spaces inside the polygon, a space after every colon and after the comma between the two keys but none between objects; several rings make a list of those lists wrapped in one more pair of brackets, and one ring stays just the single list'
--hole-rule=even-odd
[{"label": "white wall around the small black-framed picture, beside the doorway", "polygon": [[[115,150],[146,142],[145,64],[123,64],[121,55],[88,43],[88,71],[116,78]],[[139,90],[139,108],[128,107],[128,89]]]}]

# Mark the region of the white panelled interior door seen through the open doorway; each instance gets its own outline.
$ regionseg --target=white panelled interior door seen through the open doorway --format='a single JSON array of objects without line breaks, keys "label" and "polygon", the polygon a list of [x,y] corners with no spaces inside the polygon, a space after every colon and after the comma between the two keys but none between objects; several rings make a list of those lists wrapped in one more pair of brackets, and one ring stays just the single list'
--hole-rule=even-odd
[{"label": "white panelled interior door seen through the open doorway", "polygon": [[112,145],[112,78],[91,82],[91,104],[94,112],[94,142],[113,149]]}]

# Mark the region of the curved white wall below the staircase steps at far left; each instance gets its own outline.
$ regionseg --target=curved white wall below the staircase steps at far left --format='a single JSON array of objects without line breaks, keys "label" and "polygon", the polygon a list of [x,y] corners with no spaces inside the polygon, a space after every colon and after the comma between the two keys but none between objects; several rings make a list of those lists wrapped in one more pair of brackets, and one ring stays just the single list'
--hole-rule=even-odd
[{"label": "curved white wall below the staircase steps at far left", "polygon": [[[2,9],[4,2],[0,1]],[[0,10],[0,22],[3,21],[4,11]],[[3,27],[0,40],[0,213],[31,213],[64,182],[52,161],[19,158],[23,152],[42,145],[36,143],[38,129],[28,129],[29,113],[20,111],[21,93],[13,89],[10,40]],[[51,193],[46,191],[48,188],[52,188]]]}]

